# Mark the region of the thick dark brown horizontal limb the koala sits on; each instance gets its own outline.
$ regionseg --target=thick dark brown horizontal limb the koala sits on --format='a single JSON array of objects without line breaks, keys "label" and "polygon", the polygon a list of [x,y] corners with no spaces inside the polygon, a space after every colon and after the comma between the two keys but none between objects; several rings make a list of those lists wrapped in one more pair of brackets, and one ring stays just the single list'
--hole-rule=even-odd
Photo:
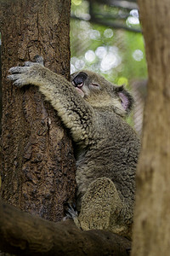
[{"label": "thick dark brown horizontal limb the koala sits on", "polygon": [[72,220],[50,222],[0,201],[0,250],[16,255],[127,256],[131,242],[105,230],[78,230]]}]

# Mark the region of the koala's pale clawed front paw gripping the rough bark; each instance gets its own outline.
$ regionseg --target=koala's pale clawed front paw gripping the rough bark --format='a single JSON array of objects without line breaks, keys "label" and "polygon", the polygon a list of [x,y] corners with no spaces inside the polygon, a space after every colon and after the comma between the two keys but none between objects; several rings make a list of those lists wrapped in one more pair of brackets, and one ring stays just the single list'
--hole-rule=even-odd
[{"label": "koala's pale clawed front paw gripping the rough bark", "polygon": [[22,87],[26,84],[34,84],[33,79],[35,78],[37,67],[43,66],[42,56],[36,55],[34,57],[36,62],[26,61],[25,67],[11,67],[9,69],[8,79],[14,81],[14,85]]}]

